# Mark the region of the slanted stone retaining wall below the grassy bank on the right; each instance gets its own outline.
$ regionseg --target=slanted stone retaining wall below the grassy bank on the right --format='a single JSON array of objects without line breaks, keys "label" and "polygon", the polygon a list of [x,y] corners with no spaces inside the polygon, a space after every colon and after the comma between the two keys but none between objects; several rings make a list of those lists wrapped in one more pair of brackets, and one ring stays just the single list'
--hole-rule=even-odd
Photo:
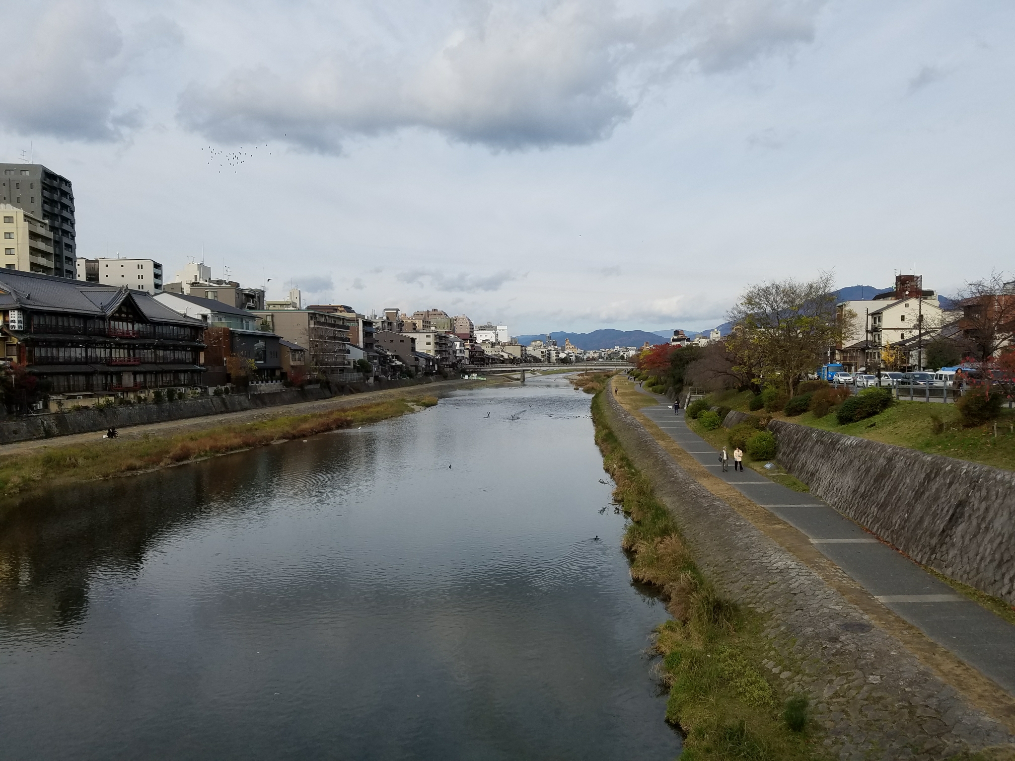
[{"label": "slanted stone retaining wall below the grassy bank on the right", "polygon": [[1015,604],[1015,473],[781,420],[779,462],[918,562]]}]

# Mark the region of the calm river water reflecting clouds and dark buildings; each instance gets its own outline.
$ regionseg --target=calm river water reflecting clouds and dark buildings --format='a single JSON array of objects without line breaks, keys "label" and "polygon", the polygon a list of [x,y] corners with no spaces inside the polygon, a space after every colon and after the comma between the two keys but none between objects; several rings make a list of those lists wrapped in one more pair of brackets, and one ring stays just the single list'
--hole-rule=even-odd
[{"label": "calm river water reflecting clouds and dark buildings", "polygon": [[600,479],[548,376],[24,503],[0,758],[672,759]]}]

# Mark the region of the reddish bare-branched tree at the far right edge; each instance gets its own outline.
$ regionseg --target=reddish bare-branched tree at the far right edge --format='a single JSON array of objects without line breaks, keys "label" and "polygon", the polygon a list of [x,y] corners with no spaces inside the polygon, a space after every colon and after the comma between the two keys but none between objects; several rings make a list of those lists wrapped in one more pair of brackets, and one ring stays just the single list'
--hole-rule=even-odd
[{"label": "reddish bare-branched tree at the far right edge", "polygon": [[954,299],[962,309],[958,327],[975,358],[985,361],[1015,339],[1015,276],[1008,282],[994,270],[967,281]]}]

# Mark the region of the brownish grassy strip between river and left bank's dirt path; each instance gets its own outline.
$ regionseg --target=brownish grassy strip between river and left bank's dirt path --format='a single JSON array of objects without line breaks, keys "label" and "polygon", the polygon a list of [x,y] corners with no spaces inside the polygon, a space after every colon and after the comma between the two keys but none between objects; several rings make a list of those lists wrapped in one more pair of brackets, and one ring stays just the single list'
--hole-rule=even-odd
[{"label": "brownish grassy strip between river and left bank's dirt path", "polygon": [[399,399],[307,415],[290,415],[252,423],[233,423],[173,436],[140,440],[98,439],[50,446],[0,461],[0,495],[11,497],[42,485],[92,481],[165,468],[274,441],[350,428],[404,415],[435,405],[435,397]]}]

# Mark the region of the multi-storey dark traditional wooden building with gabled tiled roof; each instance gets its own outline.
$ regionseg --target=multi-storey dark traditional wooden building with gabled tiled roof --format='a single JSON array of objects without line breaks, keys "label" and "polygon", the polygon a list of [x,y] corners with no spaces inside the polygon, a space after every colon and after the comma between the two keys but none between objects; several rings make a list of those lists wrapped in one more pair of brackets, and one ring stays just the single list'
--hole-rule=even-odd
[{"label": "multi-storey dark traditional wooden building with gabled tiled roof", "polygon": [[127,287],[0,271],[5,359],[53,394],[195,387],[200,320]]}]

